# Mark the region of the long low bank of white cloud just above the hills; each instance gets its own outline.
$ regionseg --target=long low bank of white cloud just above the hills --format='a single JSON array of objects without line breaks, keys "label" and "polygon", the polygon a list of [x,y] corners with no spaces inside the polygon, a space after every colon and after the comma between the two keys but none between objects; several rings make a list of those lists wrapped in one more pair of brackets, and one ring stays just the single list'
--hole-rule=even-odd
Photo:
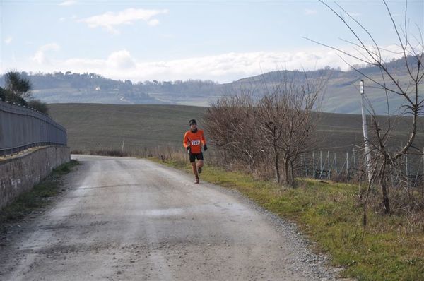
[{"label": "long low bank of white cloud just above the hills", "polygon": [[[134,82],[143,80],[187,80],[210,79],[220,83],[230,82],[277,69],[316,70],[331,66],[348,70],[338,54],[325,47],[300,49],[295,52],[244,52],[225,53],[211,56],[196,56],[183,59],[163,61],[142,61],[126,49],[117,50],[99,59],[70,58],[54,59],[53,51],[59,49],[57,44],[40,47],[33,56],[33,64],[19,66],[25,71],[72,71],[78,73],[98,73],[107,78]],[[354,52],[353,47],[341,47],[346,52]],[[383,57],[399,58],[399,46],[384,47]],[[351,64],[359,61],[345,57]],[[5,66],[8,67],[8,66]],[[13,66],[18,67],[18,66]]]}]

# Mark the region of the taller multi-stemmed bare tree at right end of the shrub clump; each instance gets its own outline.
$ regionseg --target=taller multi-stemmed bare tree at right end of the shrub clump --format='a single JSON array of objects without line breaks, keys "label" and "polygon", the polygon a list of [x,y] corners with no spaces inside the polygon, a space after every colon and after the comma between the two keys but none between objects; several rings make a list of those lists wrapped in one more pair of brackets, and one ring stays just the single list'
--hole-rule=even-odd
[{"label": "taller multi-stemmed bare tree at right end of the shrub clump", "polygon": [[257,119],[264,145],[271,150],[276,181],[293,186],[295,162],[312,150],[310,140],[318,122],[312,110],[326,83],[323,79],[308,80],[306,74],[299,79],[296,75],[289,78],[287,71],[281,73],[281,81],[259,100]]}]

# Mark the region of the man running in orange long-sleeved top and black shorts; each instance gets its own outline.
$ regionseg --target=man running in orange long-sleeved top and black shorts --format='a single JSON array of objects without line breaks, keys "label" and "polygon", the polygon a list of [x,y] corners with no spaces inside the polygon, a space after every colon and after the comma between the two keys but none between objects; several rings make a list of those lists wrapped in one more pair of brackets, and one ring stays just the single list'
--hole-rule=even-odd
[{"label": "man running in orange long-sleeved top and black shorts", "polygon": [[[192,119],[189,121],[190,129],[184,133],[184,140],[182,145],[189,152],[190,163],[192,163],[192,169],[196,181],[194,184],[199,184],[199,174],[201,173],[201,167],[203,167],[203,153],[201,153],[201,146],[203,145],[206,151],[206,139],[203,130],[197,128],[196,120]],[[197,165],[196,165],[197,159]]]}]

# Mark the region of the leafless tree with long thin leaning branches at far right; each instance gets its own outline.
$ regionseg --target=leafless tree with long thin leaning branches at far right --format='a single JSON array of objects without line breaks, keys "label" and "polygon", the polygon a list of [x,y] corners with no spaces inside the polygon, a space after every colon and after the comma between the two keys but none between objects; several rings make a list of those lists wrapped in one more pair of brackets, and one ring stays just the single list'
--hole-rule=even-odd
[{"label": "leafless tree with long thin leaning branches at far right", "polygon": [[[341,20],[349,32],[351,32],[355,38],[355,42],[350,42],[348,40],[343,41],[352,44],[355,51],[347,52],[315,40],[311,41],[339,52],[341,59],[343,59],[348,66],[351,66],[351,68],[360,73],[360,75],[365,78],[366,83],[370,85],[369,87],[375,90],[381,90],[387,102],[386,116],[377,116],[372,107],[372,102],[368,103],[368,110],[372,119],[372,134],[368,143],[372,145],[372,167],[375,167],[373,179],[375,179],[381,187],[384,213],[390,213],[388,175],[396,170],[396,167],[398,167],[396,162],[399,162],[402,156],[411,149],[418,150],[418,148],[414,147],[414,140],[418,132],[418,116],[423,113],[424,106],[422,88],[424,78],[424,44],[422,32],[418,25],[416,25],[415,35],[410,32],[410,25],[407,17],[407,1],[405,5],[403,27],[399,27],[396,24],[387,1],[382,1],[391,22],[391,28],[394,28],[396,32],[395,40],[396,45],[399,46],[399,52],[395,54],[401,55],[402,59],[400,66],[399,64],[394,66],[390,64],[390,59],[384,55],[391,51],[379,45],[368,28],[365,28],[364,25],[353,18],[353,16],[347,13],[340,5],[336,4],[338,8],[341,9],[341,14],[337,13],[334,8],[331,8],[331,6],[324,1],[319,1],[329,8],[329,10]],[[310,40],[309,38],[307,39]],[[370,76],[366,71],[363,71],[362,68],[350,64],[346,58],[355,59],[362,64],[377,67],[380,71],[380,77],[375,78]],[[390,112],[389,104],[392,101],[392,97],[399,97],[402,100],[401,107],[395,112],[396,115],[412,117],[410,124],[408,124],[408,136],[406,136],[403,142],[404,145],[401,145],[400,148],[399,146],[395,148],[394,143],[390,141],[393,133],[393,126],[397,120],[397,117],[391,116],[393,112]]]}]

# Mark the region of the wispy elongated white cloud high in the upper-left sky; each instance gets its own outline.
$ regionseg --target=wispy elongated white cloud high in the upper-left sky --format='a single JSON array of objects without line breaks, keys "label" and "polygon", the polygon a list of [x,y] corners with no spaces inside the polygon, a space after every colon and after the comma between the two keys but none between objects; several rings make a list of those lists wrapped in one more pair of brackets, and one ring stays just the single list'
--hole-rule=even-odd
[{"label": "wispy elongated white cloud high in the upper-left sky", "polygon": [[160,23],[159,20],[153,17],[167,12],[167,10],[127,8],[117,13],[107,12],[101,15],[91,16],[90,18],[83,18],[78,20],[78,22],[87,23],[90,28],[106,28],[107,31],[117,34],[119,33],[119,30],[116,29],[118,25],[130,25],[138,20],[143,20],[150,26],[158,25]]}]

